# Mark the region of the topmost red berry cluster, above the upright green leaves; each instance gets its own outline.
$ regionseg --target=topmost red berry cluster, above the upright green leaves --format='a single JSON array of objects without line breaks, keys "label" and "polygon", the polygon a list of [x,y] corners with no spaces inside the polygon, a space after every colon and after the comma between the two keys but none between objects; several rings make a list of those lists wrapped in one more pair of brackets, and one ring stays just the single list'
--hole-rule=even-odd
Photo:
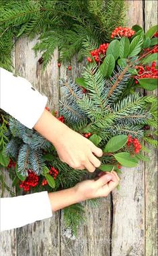
[{"label": "topmost red berry cluster, above the upright green leaves", "polygon": [[135,31],[130,27],[116,27],[111,33],[111,38],[127,37],[131,38],[135,34]]}]

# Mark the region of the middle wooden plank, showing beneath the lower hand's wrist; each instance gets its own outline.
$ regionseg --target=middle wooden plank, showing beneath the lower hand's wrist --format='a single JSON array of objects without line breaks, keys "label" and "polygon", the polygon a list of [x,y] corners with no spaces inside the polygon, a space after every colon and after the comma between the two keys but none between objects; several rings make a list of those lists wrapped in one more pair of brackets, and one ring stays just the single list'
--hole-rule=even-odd
[{"label": "middle wooden plank, showing beneath the lower hand's wrist", "polygon": [[[82,72],[84,62],[78,64],[76,58],[72,60],[72,70],[61,66],[60,78],[71,77],[74,80]],[[62,97],[62,93],[61,93]],[[89,176],[90,178],[90,176]],[[61,218],[61,255],[72,256],[110,256],[110,196],[100,198],[98,207],[92,208],[88,202],[85,206],[86,223],[78,229],[75,238],[68,229],[64,229],[64,214]]]}]

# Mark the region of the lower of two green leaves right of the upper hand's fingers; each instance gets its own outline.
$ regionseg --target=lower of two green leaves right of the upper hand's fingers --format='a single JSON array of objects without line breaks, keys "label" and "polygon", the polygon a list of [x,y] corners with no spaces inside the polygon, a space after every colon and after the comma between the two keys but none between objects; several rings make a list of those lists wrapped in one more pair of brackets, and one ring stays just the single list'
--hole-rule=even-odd
[{"label": "lower of two green leaves right of the upper hand's fingers", "polygon": [[138,164],[138,159],[136,157],[132,157],[128,152],[116,153],[114,158],[125,167],[135,167]]}]

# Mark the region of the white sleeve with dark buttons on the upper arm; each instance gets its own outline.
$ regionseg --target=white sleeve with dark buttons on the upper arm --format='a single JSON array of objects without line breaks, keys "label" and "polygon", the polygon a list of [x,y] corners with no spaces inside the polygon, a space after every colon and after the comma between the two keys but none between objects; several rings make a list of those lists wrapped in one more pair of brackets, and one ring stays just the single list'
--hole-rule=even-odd
[{"label": "white sleeve with dark buttons on the upper arm", "polygon": [[32,129],[47,101],[25,78],[0,68],[0,108],[20,123]]}]

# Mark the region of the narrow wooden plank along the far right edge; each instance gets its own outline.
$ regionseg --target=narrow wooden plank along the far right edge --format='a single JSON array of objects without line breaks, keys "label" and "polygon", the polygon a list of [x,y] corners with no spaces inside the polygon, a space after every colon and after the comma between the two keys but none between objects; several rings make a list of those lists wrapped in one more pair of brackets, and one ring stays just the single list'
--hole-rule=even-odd
[{"label": "narrow wooden plank along the far right edge", "polygon": [[[145,31],[157,24],[157,1],[145,1]],[[157,92],[147,92],[157,94]],[[157,255],[157,150],[149,147],[145,164],[145,255]]]}]

